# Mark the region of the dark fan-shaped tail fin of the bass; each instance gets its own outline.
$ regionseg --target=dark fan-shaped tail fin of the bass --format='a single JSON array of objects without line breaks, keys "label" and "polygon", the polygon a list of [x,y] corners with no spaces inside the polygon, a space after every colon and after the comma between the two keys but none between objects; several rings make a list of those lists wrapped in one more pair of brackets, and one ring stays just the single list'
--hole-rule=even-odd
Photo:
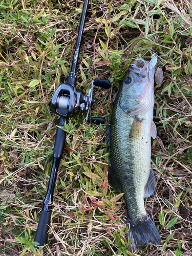
[{"label": "dark fan-shaped tail fin of the bass", "polygon": [[127,237],[131,240],[129,245],[131,252],[135,252],[149,243],[156,245],[161,243],[160,234],[150,215],[146,214],[139,221],[131,221],[127,218],[127,226],[129,227]]}]

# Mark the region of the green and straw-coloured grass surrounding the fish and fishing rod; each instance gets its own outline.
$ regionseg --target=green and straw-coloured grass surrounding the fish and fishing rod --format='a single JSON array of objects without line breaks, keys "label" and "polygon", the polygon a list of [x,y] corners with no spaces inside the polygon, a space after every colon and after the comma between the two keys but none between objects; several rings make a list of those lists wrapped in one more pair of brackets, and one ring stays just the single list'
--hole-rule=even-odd
[{"label": "green and straw-coloured grass surrounding the fish and fishing rod", "polygon": [[[73,0],[0,3],[0,255],[131,254],[123,197],[106,179],[104,126],[86,123],[86,112],[70,118],[66,127],[49,245],[35,251],[32,242],[58,121],[49,103],[70,72],[81,8],[82,2]],[[77,88],[88,93],[92,77],[112,82],[110,90],[94,90],[92,116],[109,122],[133,59],[152,47],[167,61],[163,82],[154,89],[158,136],[152,144],[152,166],[157,185],[145,199],[162,243],[134,255],[192,255],[191,12],[188,0],[92,0],[88,7]]]}]

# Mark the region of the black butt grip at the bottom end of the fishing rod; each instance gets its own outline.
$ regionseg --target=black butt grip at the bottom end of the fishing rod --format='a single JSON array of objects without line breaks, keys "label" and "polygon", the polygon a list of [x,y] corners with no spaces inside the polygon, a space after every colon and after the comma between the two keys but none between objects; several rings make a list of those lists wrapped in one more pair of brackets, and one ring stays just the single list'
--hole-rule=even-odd
[{"label": "black butt grip at the bottom end of the fishing rod", "polygon": [[48,231],[51,222],[51,211],[41,211],[40,219],[35,235],[35,242],[39,243],[36,247],[41,247],[47,244]]}]

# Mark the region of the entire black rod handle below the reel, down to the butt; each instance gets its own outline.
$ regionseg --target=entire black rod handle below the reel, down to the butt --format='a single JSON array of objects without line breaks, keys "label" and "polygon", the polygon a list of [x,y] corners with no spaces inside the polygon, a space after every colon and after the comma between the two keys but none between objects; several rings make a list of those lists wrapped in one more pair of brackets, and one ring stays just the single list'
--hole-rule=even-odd
[{"label": "entire black rod handle below the reel, down to the butt", "polygon": [[[68,118],[60,116],[58,126],[64,126],[65,122],[68,123]],[[36,245],[36,247],[44,246],[45,244],[47,244],[48,241],[48,231],[51,221],[51,210],[55,182],[57,178],[59,163],[65,146],[66,134],[66,131],[62,130],[60,127],[57,127],[49,185],[47,189],[46,198],[42,204],[40,219],[36,231],[36,236],[34,239],[35,242],[39,243],[39,245]]]}]

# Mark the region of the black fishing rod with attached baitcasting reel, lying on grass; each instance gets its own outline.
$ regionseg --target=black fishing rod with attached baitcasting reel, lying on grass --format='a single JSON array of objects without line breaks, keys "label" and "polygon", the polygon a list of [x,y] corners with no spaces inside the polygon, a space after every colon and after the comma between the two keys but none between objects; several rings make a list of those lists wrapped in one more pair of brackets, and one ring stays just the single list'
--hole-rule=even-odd
[{"label": "black fishing rod with attached baitcasting reel, lying on grass", "polygon": [[40,219],[36,231],[36,236],[34,241],[38,242],[37,247],[44,246],[48,242],[48,231],[51,222],[51,212],[53,205],[53,195],[55,182],[57,178],[57,172],[60,160],[62,158],[63,149],[65,147],[66,132],[61,129],[62,126],[69,122],[69,117],[72,117],[77,111],[88,110],[86,120],[88,122],[93,122],[96,124],[103,124],[104,119],[101,117],[88,117],[91,106],[95,102],[93,98],[93,85],[97,87],[102,87],[104,89],[109,89],[111,83],[108,79],[95,79],[92,81],[92,87],[89,91],[89,95],[86,95],[81,90],[76,89],[76,69],[77,62],[80,52],[81,39],[83,34],[84,23],[86,20],[86,13],[88,8],[89,0],[84,0],[83,10],[80,19],[80,26],[78,37],[75,46],[75,53],[73,56],[71,72],[67,77],[66,83],[61,83],[60,86],[55,91],[52,101],[51,110],[54,114],[59,115],[59,122],[56,129],[55,143],[53,149],[53,160],[52,168],[49,179],[49,184],[47,188],[47,194],[44,202],[42,203],[42,209],[40,214]]}]

